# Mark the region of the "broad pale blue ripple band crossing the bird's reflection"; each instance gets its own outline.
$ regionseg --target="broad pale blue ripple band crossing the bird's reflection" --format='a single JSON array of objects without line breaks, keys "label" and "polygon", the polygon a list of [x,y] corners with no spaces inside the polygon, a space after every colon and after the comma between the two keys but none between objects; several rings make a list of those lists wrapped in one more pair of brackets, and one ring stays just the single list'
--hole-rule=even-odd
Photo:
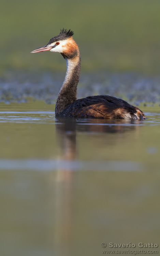
[{"label": "broad pale blue ripple band crossing the bird's reflection", "polygon": [[131,161],[65,161],[45,159],[0,159],[0,170],[36,171],[143,171],[144,166]]}]

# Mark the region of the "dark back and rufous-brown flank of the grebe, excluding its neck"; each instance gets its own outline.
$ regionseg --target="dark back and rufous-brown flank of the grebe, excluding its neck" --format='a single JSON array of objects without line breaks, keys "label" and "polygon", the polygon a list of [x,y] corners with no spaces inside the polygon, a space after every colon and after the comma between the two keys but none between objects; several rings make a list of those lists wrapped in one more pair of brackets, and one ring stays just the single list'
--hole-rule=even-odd
[{"label": "dark back and rufous-brown flank of the grebe, excluding its neck", "polygon": [[125,100],[107,95],[78,99],[65,109],[64,112],[65,116],[77,118],[145,118],[141,110],[130,105]]}]

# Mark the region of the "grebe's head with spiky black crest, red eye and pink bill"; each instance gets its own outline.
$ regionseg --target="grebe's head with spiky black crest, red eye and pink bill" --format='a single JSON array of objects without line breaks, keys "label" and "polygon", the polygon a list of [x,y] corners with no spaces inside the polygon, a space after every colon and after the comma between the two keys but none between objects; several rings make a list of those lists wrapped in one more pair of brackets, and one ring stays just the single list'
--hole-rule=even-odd
[{"label": "grebe's head with spiky black crest, red eye and pink bill", "polygon": [[64,58],[73,58],[78,53],[78,45],[72,38],[73,34],[73,31],[63,28],[59,35],[50,39],[48,44],[35,49],[31,53],[50,51],[61,53]]}]

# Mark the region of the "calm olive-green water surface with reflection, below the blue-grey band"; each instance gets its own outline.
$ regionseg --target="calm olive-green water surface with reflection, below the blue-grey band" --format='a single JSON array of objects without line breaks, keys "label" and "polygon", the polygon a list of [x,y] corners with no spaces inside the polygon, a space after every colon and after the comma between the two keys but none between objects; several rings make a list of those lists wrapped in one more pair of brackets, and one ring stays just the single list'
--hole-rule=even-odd
[{"label": "calm olive-green water surface with reflection, below the blue-grey band", "polygon": [[55,118],[53,109],[1,103],[1,255],[158,243],[159,108],[142,109],[144,121]]}]

